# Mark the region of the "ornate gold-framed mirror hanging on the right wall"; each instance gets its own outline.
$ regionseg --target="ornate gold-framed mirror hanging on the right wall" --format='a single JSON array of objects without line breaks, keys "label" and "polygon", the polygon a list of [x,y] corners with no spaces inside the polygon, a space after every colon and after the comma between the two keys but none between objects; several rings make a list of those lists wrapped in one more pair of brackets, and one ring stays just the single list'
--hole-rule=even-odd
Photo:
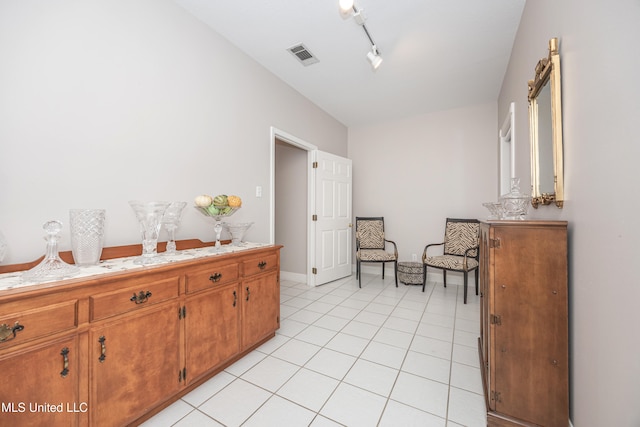
[{"label": "ornate gold-framed mirror hanging on the right wall", "polygon": [[562,159],[562,95],[558,39],[549,40],[549,55],[536,64],[529,80],[529,135],[531,139],[531,204],[564,202]]}]

